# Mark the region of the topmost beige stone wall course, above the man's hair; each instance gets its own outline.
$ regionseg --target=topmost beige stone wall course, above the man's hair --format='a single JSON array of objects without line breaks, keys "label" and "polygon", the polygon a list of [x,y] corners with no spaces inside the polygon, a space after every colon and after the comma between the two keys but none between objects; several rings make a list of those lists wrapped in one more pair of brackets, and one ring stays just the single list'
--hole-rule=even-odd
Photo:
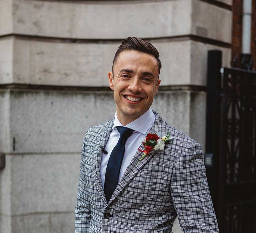
[{"label": "topmost beige stone wall course, above the man's hair", "polygon": [[9,28],[13,33],[25,35],[122,39],[130,35],[142,38],[202,36],[203,32],[207,38],[231,41],[231,12],[199,0],[12,0],[12,12]]}]

